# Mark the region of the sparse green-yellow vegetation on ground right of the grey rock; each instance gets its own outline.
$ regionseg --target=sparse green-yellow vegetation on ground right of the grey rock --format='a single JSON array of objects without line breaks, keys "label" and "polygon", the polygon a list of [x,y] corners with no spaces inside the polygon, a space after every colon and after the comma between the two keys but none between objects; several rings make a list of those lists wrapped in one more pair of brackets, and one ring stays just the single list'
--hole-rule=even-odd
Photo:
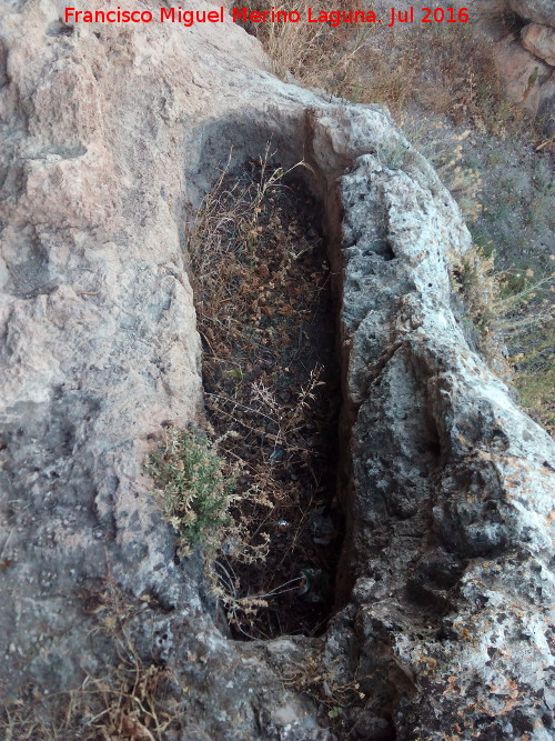
[{"label": "sparse green-yellow vegetation on ground right of the grey rock", "polygon": [[476,242],[464,260],[453,262],[452,276],[474,322],[476,344],[517,389],[528,413],[553,434],[551,157],[544,152],[531,177],[519,171],[517,144],[507,143],[504,150],[498,140],[476,134],[472,127],[453,130],[445,123],[423,127],[410,120],[407,136],[451,190]]}]

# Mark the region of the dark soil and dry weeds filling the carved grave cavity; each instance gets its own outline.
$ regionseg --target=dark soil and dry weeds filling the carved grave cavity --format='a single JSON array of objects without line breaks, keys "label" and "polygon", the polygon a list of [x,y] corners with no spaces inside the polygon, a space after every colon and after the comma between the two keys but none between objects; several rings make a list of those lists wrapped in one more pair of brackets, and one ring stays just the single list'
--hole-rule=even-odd
[{"label": "dark soil and dry weeds filling the carved grave cavity", "polygon": [[[215,564],[238,639],[316,635],[333,605],[340,377],[321,210],[300,180],[249,162],[200,217],[193,264],[206,414],[239,467],[232,508],[265,555]],[[213,256],[211,257],[211,252]]]}]

